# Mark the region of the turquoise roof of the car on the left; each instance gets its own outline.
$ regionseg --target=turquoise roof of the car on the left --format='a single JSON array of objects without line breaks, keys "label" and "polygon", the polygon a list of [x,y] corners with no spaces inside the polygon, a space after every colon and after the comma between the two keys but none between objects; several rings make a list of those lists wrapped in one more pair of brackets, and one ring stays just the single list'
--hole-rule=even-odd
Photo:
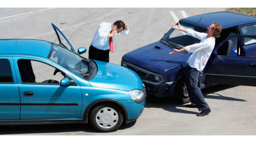
[{"label": "turquoise roof of the car on the left", "polygon": [[51,42],[36,39],[0,39],[0,54],[30,54],[47,57]]}]

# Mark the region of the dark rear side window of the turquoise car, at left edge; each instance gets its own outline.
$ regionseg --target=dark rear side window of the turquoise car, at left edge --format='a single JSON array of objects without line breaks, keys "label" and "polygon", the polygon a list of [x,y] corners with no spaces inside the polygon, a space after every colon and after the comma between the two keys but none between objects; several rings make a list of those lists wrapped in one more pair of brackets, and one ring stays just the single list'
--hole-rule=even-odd
[{"label": "dark rear side window of the turquoise car, at left edge", "polygon": [[13,83],[12,69],[7,59],[0,59],[0,83]]}]

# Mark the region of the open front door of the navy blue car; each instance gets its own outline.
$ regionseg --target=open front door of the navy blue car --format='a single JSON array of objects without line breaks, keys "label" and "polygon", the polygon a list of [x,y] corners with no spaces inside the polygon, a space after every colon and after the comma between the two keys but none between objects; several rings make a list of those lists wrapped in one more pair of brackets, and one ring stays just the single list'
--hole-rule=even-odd
[{"label": "open front door of the navy blue car", "polygon": [[241,44],[244,38],[248,36],[230,35],[222,44],[230,41],[231,47],[221,47],[222,44],[216,47],[216,50],[220,47],[225,48],[224,51],[227,50],[228,55],[218,55],[215,50],[213,51],[206,65],[206,83],[256,86],[256,55],[251,54],[256,52],[256,47],[246,51]]}]

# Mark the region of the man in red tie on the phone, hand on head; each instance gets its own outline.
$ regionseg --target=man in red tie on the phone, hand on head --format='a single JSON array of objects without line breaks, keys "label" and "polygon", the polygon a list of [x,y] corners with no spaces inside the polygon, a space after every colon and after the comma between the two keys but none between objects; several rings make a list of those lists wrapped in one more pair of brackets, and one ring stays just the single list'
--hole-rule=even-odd
[{"label": "man in red tie on the phone, hand on head", "polygon": [[128,35],[128,25],[119,20],[114,23],[100,23],[89,48],[89,59],[109,62],[109,51],[113,53],[116,35]]}]

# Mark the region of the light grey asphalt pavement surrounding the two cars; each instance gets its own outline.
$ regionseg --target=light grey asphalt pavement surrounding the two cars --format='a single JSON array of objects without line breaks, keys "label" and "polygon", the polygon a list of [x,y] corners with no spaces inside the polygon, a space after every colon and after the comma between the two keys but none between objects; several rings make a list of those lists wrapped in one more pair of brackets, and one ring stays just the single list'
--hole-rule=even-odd
[{"label": "light grey asphalt pavement surrounding the two cars", "polygon": [[[57,43],[54,23],[72,46],[88,50],[101,22],[123,20],[128,36],[118,36],[110,62],[136,48],[158,41],[178,19],[224,8],[0,8],[0,39],[29,38]],[[174,15],[173,15],[174,13]],[[176,18],[176,17],[177,18]],[[88,58],[88,52],[82,54]],[[153,98],[136,122],[111,133],[98,133],[89,124],[1,126],[0,134],[21,135],[255,135],[256,88],[215,85],[202,90],[211,113],[197,117],[197,108]]]}]

